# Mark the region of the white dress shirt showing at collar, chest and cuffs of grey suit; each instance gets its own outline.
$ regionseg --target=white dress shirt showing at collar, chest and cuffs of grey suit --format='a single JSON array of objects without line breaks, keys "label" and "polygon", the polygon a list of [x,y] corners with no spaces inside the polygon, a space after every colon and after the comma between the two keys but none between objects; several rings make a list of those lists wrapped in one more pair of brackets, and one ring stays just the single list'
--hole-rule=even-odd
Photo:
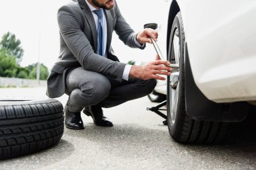
[{"label": "white dress shirt showing at collar, chest and cuffs of grey suit", "polygon": [[[94,10],[97,10],[94,6],[92,6],[90,3],[88,3],[87,0],[85,0],[87,5],[89,6],[89,8],[91,9],[91,11],[94,11]],[[95,24],[96,24],[96,28],[98,29],[98,15],[96,15],[96,13],[92,12],[92,15],[94,16],[94,21],[95,21]],[[106,57],[106,37],[107,37],[107,30],[106,30],[107,26],[106,26],[106,16],[105,16],[105,13],[103,13],[103,36],[104,36],[104,56]],[[138,45],[138,46],[141,46],[141,44],[139,44],[139,42],[137,42],[135,40],[135,43]],[[143,46],[143,45],[142,45]],[[124,80],[128,80],[129,79],[129,73],[131,71],[131,67],[132,65],[126,65],[125,66],[125,70],[123,71],[123,76],[122,76],[122,79]]]}]

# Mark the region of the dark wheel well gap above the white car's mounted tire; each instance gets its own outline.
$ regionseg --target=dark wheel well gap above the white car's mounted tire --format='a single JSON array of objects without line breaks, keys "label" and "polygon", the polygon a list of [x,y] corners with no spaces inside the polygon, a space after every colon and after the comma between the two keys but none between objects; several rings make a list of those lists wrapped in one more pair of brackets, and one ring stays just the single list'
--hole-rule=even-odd
[{"label": "dark wheel well gap above the white car's mounted tire", "polygon": [[180,11],[180,7],[177,3],[177,1],[173,0],[170,4],[170,10],[169,10],[169,17],[168,17],[168,28],[167,28],[167,46],[166,46],[166,54],[168,54],[168,46],[169,46],[169,38],[170,38],[170,31],[172,30],[172,23],[174,21],[174,17],[176,14]]}]

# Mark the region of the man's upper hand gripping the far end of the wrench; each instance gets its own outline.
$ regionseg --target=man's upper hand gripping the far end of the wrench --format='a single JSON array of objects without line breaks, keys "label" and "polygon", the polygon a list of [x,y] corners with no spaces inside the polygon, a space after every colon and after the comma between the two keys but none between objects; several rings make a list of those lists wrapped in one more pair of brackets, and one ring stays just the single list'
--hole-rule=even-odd
[{"label": "man's upper hand gripping the far end of the wrench", "polygon": [[151,28],[145,28],[139,34],[137,34],[137,40],[139,43],[144,44],[146,42],[152,44],[152,40],[150,40],[150,37],[153,38],[153,40],[158,40],[158,32],[156,30],[153,30]]}]

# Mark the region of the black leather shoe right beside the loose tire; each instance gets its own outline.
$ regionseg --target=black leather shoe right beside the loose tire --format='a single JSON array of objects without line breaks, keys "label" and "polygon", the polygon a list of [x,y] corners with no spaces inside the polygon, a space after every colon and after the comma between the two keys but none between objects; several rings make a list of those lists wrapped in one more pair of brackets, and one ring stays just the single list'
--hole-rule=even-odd
[{"label": "black leather shoe right beside the loose tire", "polygon": [[84,129],[84,123],[80,113],[73,113],[69,111],[67,105],[65,105],[65,126],[70,129]]}]

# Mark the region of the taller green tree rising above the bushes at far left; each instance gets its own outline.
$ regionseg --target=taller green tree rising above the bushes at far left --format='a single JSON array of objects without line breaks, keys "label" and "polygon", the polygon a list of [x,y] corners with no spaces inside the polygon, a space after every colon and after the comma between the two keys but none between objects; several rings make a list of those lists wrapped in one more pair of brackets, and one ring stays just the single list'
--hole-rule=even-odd
[{"label": "taller green tree rising above the bushes at far left", "polygon": [[17,58],[18,64],[22,61],[22,56],[24,54],[24,50],[22,46],[20,46],[21,42],[19,39],[16,39],[15,34],[11,34],[7,32],[3,35],[2,40],[0,42],[0,48],[5,48],[11,56],[15,56]]}]

